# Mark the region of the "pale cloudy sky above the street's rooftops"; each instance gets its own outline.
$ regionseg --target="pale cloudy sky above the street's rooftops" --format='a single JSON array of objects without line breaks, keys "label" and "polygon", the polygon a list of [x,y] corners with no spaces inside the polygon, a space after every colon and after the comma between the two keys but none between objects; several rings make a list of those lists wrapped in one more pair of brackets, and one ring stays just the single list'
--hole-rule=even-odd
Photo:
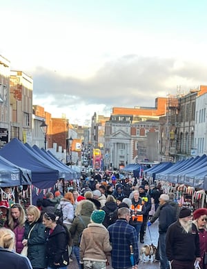
[{"label": "pale cloudy sky above the street's rooftops", "polygon": [[0,54],[33,104],[88,125],[207,85],[207,0],[0,0]]}]

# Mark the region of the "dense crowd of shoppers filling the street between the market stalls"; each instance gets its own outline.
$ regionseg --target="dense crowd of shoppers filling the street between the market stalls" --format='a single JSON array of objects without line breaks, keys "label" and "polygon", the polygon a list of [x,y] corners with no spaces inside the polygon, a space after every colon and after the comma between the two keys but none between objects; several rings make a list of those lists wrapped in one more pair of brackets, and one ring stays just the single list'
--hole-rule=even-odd
[{"label": "dense crowd of shoppers filling the street between the market stalls", "polygon": [[[180,208],[173,193],[146,180],[106,180],[99,174],[83,181],[79,192],[61,188],[26,210],[19,203],[8,206],[0,228],[0,268],[22,268],[22,262],[26,269],[66,269],[71,259],[80,269],[109,263],[114,269],[138,268],[138,242],[144,243],[146,228],[157,219],[160,268],[206,269],[206,208]],[[27,257],[21,255],[25,248]],[[5,267],[9,260],[12,265]]]}]

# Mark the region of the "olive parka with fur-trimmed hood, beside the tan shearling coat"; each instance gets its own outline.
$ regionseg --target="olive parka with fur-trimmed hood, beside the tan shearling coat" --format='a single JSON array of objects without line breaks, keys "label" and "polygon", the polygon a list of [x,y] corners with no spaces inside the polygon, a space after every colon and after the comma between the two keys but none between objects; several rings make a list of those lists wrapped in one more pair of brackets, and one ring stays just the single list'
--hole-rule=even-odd
[{"label": "olive parka with fur-trimmed hood, beside the tan shearling coat", "polygon": [[85,226],[78,216],[75,217],[74,221],[72,221],[70,234],[72,235],[74,246],[79,246],[81,232],[83,232],[84,228],[87,228],[88,223],[90,223],[90,215],[93,210],[94,206],[90,201],[84,202],[81,208],[81,219],[83,219]]}]

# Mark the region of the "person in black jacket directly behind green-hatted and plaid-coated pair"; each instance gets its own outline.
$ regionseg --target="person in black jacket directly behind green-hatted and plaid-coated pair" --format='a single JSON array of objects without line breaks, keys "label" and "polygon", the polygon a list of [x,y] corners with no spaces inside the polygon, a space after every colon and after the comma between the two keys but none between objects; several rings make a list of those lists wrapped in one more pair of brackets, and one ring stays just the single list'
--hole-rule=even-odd
[{"label": "person in black jacket directly behind green-hatted and plaid-coated pair", "polygon": [[103,220],[103,226],[108,228],[108,226],[112,224],[112,213],[117,209],[115,198],[112,195],[108,195],[105,206],[103,206],[101,209],[106,212],[106,216]]}]

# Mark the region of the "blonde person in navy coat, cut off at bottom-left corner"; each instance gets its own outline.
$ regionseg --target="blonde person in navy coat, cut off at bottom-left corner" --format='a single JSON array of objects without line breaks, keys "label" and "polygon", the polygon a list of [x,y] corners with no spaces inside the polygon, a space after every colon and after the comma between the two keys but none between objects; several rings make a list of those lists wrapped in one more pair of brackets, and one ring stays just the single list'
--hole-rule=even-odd
[{"label": "blonde person in navy coat, cut off at bottom-left corner", "polygon": [[12,252],[15,235],[12,230],[0,228],[0,268],[6,269],[32,269],[27,257]]}]

